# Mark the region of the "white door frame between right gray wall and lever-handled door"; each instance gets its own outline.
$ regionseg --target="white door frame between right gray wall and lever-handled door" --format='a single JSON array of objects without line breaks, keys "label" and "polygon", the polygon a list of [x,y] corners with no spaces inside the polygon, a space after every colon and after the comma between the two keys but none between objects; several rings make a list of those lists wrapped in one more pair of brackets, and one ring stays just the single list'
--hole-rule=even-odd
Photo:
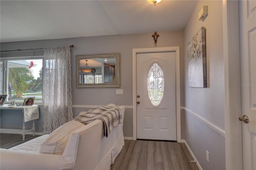
[{"label": "white door frame between right gray wall and lever-handled door", "polygon": [[226,169],[243,169],[239,1],[222,0]]}]

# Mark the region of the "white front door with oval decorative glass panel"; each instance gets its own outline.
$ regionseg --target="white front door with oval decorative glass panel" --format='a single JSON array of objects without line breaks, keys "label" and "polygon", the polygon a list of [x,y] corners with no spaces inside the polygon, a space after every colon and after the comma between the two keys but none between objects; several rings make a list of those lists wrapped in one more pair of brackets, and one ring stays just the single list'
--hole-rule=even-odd
[{"label": "white front door with oval decorative glass panel", "polygon": [[137,138],[177,140],[175,52],[136,54]]}]

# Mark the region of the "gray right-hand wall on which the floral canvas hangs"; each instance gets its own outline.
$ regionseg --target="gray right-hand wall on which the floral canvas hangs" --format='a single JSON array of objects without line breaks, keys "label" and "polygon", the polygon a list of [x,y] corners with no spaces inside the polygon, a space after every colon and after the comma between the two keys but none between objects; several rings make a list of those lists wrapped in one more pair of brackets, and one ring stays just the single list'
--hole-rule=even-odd
[{"label": "gray right-hand wall on which the floral canvas hangs", "polygon": [[[205,5],[208,16],[199,21],[198,12]],[[206,28],[208,87],[190,88],[186,47],[201,27]],[[222,1],[198,1],[184,29],[184,84],[184,139],[204,170],[225,169],[225,138],[217,130],[224,133],[225,129]],[[206,161],[206,150],[210,162]]]}]

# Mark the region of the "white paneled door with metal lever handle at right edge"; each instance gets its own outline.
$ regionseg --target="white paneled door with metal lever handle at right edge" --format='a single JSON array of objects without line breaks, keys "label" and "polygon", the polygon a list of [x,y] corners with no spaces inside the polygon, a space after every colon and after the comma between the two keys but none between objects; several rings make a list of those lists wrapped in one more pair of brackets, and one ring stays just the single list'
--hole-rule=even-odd
[{"label": "white paneled door with metal lever handle at right edge", "polygon": [[243,168],[256,170],[256,1],[239,5],[242,115],[249,119],[242,123]]}]

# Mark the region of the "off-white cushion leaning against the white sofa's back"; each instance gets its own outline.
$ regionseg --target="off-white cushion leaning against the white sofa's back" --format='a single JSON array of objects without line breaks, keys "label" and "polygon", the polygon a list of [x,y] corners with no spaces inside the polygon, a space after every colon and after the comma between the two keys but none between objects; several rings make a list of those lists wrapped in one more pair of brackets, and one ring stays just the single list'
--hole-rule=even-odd
[{"label": "off-white cushion leaning against the white sofa's back", "polygon": [[56,128],[41,144],[39,152],[62,154],[72,132],[84,126],[78,121],[70,121]]}]

